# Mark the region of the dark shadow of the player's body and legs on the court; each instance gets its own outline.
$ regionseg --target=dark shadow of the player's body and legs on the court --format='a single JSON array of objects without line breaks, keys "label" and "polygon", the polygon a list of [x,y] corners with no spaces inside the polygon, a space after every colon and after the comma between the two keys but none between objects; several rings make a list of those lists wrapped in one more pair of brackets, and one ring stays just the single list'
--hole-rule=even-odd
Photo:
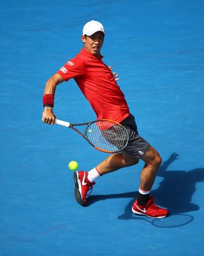
[{"label": "dark shadow of the player's body and legs on the court", "polygon": [[[190,171],[167,170],[169,165],[177,159],[178,154],[173,153],[162,164],[157,176],[163,179],[159,187],[152,191],[152,196],[155,197],[156,204],[167,208],[170,216],[198,211],[200,209],[199,205],[192,202],[192,195],[196,191],[196,183],[204,180],[204,168],[196,168]],[[131,198],[123,214],[118,216],[119,219],[129,220],[136,218],[131,211],[136,196],[137,191],[113,195],[93,195],[88,197],[87,202],[88,205],[91,205],[100,200],[111,198]]]}]

